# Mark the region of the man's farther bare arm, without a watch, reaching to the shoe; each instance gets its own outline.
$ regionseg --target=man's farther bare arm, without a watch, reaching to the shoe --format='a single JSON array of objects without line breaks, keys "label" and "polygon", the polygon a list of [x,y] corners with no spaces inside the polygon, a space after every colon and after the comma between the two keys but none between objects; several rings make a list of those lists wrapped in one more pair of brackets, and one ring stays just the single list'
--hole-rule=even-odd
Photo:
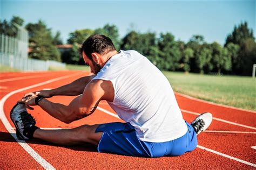
[{"label": "man's farther bare arm, without a watch, reaching to the shoe", "polygon": [[77,96],[83,94],[84,88],[93,79],[93,77],[95,77],[95,75],[80,77],[79,79],[56,89],[34,91],[25,94],[24,97],[38,95],[46,98],[52,96]]}]

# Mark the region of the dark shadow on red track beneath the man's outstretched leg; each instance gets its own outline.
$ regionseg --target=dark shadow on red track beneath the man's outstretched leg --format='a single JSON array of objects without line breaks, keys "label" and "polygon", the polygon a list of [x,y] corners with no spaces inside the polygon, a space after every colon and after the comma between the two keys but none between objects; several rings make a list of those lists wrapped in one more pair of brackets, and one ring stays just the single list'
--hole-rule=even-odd
[{"label": "dark shadow on red track beneath the man's outstretched leg", "polygon": [[[15,133],[12,133],[16,136]],[[0,141],[5,142],[17,142],[10,133],[8,132],[0,132]],[[22,142],[22,141],[21,141]],[[83,144],[83,145],[74,145],[74,146],[63,146],[63,145],[56,145],[49,143],[47,141],[39,140],[39,139],[32,139],[32,140],[26,140],[26,143],[28,144],[38,144],[38,145],[49,145],[49,146],[56,146],[56,147],[65,147],[69,148],[74,151],[86,151],[86,152],[98,152],[97,147],[91,144]]]}]

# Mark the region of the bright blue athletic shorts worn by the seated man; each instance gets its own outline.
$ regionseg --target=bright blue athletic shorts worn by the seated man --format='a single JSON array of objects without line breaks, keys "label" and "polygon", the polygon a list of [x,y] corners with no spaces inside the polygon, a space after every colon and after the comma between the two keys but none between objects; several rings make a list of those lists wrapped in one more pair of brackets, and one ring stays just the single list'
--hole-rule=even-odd
[{"label": "bright blue athletic shorts worn by the seated man", "polygon": [[139,140],[130,123],[101,124],[95,131],[103,132],[98,144],[98,151],[151,158],[182,155],[197,147],[197,134],[189,123],[186,122],[186,124],[188,131],[184,136],[163,143]]}]

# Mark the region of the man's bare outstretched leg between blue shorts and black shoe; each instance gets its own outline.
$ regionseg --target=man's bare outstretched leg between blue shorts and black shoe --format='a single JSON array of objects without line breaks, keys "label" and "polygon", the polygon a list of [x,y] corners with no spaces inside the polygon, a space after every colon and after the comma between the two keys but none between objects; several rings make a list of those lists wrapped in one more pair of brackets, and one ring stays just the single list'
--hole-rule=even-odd
[{"label": "man's bare outstretched leg between blue shorts and black shoe", "polygon": [[60,129],[60,130],[42,130],[37,129],[33,133],[34,138],[49,141],[50,143],[59,145],[77,145],[90,143],[98,145],[99,140],[102,138],[103,132],[95,133],[98,128],[97,125],[82,125],[73,129]]}]

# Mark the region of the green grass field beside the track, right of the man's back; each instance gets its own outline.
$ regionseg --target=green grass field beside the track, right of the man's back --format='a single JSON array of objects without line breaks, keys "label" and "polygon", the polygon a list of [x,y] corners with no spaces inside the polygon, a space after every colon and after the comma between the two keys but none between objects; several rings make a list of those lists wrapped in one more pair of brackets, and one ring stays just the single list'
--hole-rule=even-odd
[{"label": "green grass field beside the track, right of the man's back", "polygon": [[164,72],[174,91],[238,108],[256,110],[256,79]]}]

